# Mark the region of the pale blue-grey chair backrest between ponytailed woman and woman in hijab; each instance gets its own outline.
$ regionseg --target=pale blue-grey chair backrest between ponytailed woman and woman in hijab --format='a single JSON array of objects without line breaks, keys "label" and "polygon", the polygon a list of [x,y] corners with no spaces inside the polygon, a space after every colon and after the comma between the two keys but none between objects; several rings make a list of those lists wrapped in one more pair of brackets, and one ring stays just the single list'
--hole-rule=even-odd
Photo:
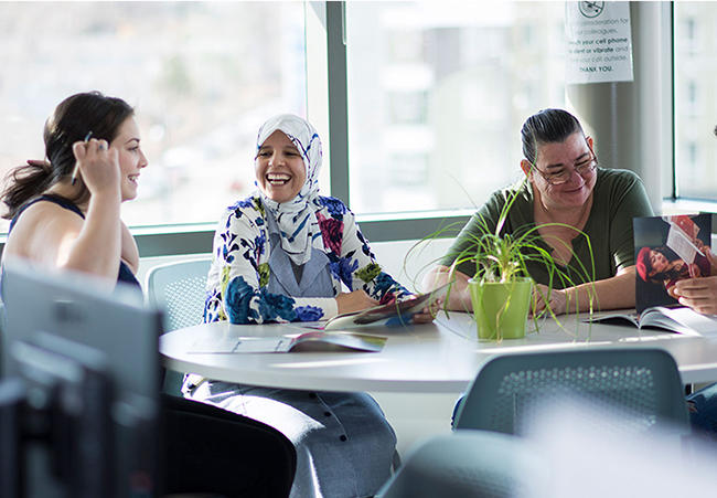
[{"label": "pale blue-grey chair backrest between ponytailed woman and woman in hijab", "polygon": [[169,263],[147,274],[150,303],[164,306],[165,332],[202,322],[211,257]]}]

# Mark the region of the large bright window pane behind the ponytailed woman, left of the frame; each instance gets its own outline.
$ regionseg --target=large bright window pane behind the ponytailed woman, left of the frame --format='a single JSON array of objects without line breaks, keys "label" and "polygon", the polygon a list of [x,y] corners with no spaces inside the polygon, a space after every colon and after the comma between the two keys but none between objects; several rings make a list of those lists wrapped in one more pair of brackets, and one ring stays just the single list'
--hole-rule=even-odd
[{"label": "large bright window pane behind the ponytailed woman, left of the frame", "polygon": [[42,158],[63,98],[98,89],[136,107],[149,159],[124,220],[214,222],[254,189],[261,123],[306,115],[303,30],[301,2],[2,3],[0,173]]}]

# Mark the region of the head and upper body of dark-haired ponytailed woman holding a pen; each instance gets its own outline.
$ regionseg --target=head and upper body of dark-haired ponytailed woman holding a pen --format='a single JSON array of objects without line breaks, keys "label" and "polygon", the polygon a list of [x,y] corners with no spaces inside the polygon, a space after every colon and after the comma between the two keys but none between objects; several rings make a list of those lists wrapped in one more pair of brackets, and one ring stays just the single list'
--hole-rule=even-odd
[{"label": "head and upper body of dark-haired ponytailed woman holding a pen", "polygon": [[11,171],[2,194],[12,220],[3,257],[137,282],[137,244],[119,212],[147,166],[133,109],[97,92],[76,94],[55,108],[43,137],[46,160]]}]

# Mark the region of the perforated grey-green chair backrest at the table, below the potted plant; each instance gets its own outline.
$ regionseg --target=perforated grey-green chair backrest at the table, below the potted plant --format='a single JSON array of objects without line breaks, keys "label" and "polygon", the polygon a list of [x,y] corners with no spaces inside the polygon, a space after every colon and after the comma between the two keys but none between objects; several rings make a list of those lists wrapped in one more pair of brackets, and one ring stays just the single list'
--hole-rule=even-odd
[{"label": "perforated grey-green chair backrest at the table, below the potted plant", "polygon": [[592,349],[493,358],[462,400],[454,428],[524,434],[534,416],[566,399],[584,399],[643,431],[689,433],[675,360],[648,348]]}]

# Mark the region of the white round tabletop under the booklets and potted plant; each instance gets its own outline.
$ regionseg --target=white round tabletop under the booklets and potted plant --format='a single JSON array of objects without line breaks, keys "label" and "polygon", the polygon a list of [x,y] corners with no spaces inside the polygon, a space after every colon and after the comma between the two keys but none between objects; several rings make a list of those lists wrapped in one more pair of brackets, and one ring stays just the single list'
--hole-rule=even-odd
[{"label": "white round tabletop under the booklets and potted plant", "polygon": [[379,353],[192,353],[197,340],[306,331],[293,324],[214,322],[165,333],[160,338],[160,352],[164,365],[172,370],[254,385],[323,391],[461,392],[493,356],[574,348],[656,347],[675,358],[684,383],[717,380],[715,338],[588,325],[576,317],[561,317],[561,326],[543,319],[539,332],[531,332],[525,339],[479,342],[472,317],[451,312],[450,319],[441,315],[434,324],[362,329],[388,337]]}]

